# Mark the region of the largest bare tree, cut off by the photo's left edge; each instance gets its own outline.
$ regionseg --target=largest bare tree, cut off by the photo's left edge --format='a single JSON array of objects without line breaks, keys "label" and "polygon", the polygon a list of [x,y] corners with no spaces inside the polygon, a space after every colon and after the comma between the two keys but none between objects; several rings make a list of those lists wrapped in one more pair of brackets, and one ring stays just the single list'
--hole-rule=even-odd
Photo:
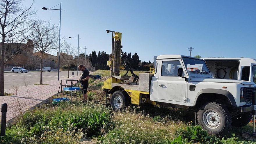
[{"label": "largest bare tree, cut off by the photo's left edge", "polygon": [[28,7],[23,7],[21,0],[0,1],[0,34],[2,36],[0,55],[0,95],[4,95],[3,70],[5,64],[27,47],[19,47],[15,54],[10,54],[10,47],[5,43],[21,44],[29,37],[27,31],[30,29],[30,19],[34,14],[34,12],[31,11],[32,4]]}]

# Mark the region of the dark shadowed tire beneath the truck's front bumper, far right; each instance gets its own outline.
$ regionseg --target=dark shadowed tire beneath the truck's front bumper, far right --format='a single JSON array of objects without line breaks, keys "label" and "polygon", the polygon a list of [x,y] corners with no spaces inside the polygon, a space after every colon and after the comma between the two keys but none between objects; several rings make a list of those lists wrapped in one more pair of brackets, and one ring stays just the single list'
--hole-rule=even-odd
[{"label": "dark shadowed tire beneath the truck's front bumper, far right", "polygon": [[252,112],[241,113],[232,118],[232,126],[233,127],[243,127],[248,125],[248,123],[252,120]]}]

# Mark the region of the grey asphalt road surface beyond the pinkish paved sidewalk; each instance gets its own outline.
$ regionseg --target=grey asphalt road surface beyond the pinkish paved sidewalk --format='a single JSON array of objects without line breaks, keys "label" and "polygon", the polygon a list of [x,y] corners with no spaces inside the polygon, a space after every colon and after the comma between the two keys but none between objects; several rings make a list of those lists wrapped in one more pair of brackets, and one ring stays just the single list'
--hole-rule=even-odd
[{"label": "grey asphalt road surface beyond the pinkish paved sidewalk", "polygon": [[[80,72],[78,73],[80,74]],[[16,73],[16,72],[5,72],[4,74],[4,90],[13,89],[13,86],[25,86],[24,79],[27,85],[40,83],[40,72],[28,72],[28,73]],[[74,72],[74,76],[77,72]],[[58,72],[43,72],[43,83],[45,81],[51,81],[58,77]],[[67,71],[60,72],[60,79],[67,77]],[[70,78],[72,72],[70,72]]]}]

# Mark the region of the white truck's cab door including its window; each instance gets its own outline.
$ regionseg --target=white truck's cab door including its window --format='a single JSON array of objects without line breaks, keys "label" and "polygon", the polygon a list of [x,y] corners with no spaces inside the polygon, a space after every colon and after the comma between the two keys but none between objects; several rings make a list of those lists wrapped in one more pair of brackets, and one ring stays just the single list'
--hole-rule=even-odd
[{"label": "white truck's cab door including its window", "polygon": [[161,60],[159,66],[161,69],[157,81],[157,101],[186,102],[186,81],[178,76],[179,67],[186,70],[181,59]]}]

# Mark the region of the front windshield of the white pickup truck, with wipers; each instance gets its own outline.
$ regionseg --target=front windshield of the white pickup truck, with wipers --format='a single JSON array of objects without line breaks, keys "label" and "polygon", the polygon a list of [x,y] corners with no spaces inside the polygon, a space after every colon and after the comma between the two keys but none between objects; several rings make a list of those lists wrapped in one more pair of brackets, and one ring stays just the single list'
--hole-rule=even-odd
[{"label": "front windshield of the white pickup truck, with wipers", "polygon": [[210,73],[205,61],[194,58],[183,57],[186,69],[189,72]]}]

